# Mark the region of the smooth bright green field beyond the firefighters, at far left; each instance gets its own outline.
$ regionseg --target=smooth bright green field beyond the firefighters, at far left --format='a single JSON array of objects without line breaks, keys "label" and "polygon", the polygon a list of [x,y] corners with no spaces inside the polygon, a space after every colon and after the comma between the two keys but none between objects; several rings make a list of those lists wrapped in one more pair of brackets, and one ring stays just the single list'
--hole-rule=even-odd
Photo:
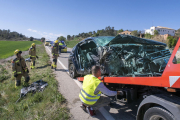
[{"label": "smooth bright green field beyond the firefighters, at far left", "polygon": [[14,55],[16,49],[26,51],[32,43],[42,44],[40,41],[0,41],[0,59]]}]

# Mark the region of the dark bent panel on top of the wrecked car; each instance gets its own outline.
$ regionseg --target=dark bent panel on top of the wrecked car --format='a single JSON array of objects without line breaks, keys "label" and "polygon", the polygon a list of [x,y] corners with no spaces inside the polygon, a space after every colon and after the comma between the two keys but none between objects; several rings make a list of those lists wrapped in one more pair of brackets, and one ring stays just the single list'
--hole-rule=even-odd
[{"label": "dark bent panel on top of the wrecked car", "polygon": [[114,39],[112,39],[106,46],[113,44],[145,44],[145,45],[163,45],[166,46],[165,43],[138,38],[131,35],[117,35]]}]

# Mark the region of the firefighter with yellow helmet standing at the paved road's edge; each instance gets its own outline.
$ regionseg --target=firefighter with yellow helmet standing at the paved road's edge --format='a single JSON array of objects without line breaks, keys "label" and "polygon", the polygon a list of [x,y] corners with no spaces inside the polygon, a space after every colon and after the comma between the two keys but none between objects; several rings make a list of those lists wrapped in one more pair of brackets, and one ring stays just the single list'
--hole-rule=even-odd
[{"label": "firefighter with yellow helmet standing at the paved road's edge", "polygon": [[52,58],[53,58],[53,63],[51,65],[51,68],[55,69],[56,70],[56,67],[57,67],[57,58],[59,57],[59,54],[58,54],[58,50],[59,50],[59,43],[58,43],[58,40],[56,40],[54,42],[54,46],[52,47],[52,50],[51,50],[51,53],[52,53]]}]

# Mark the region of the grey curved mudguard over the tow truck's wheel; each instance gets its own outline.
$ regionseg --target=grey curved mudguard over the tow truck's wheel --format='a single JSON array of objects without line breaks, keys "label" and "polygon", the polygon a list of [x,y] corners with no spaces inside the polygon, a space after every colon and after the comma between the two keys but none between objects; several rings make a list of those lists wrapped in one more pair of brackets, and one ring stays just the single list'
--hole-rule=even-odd
[{"label": "grey curved mudguard over the tow truck's wheel", "polygon": [[146,110],[154,106],[166,109],[175,117],[175,120],[180,120],[180,98],[165,94],[146,97],[138,107],[136,120],[143,120]]}]

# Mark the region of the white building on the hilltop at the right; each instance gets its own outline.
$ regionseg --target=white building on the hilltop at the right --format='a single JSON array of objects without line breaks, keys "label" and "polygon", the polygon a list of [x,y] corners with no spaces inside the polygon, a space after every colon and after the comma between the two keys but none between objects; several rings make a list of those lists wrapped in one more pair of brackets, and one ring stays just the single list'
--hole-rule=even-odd
[{"label": "white building on the hilltop at the right", "polygon": [[160,35],[165,35],[165,34],[169,34],[171,36],[175,35],[175,30],[171,29],[171,28],[167,28],[167,27],[161,27],[161,26],[153,26],[150,27],[150,29],[146,29],[145,30],[145,34],[146,33],[150,33],[151,35],[154,35],[154,30],[157,30],[159,32]]}]

